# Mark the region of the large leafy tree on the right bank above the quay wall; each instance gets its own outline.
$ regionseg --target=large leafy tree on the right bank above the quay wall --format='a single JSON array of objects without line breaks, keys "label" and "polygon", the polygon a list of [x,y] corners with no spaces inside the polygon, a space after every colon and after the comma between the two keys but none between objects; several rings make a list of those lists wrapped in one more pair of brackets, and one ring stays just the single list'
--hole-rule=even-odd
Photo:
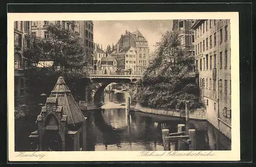
[{"label": "large leafy tree on the right bank above the quay wall", "polygon": [[181,45],[179,34],[179,30],[167,31],[156,43],[154,59],[139,80],[141,105],[183,110],[188,101],[188,108],[202,106],[199,87],[189,71],[194,55]]}]

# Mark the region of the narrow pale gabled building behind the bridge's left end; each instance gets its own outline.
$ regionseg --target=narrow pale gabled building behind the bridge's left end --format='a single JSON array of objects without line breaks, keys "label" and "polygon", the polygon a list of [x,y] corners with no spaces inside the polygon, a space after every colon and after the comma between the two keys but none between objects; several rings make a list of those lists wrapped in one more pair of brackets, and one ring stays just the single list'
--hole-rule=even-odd
[{"label": "narrow pale gabled building behind the bridge's left end", "polygon": [[102,44],[100,47],[98,43],[93,43],[93,47],[93,69],[101,69],[101,59],[106,57],[106,53],[102,50]]}]

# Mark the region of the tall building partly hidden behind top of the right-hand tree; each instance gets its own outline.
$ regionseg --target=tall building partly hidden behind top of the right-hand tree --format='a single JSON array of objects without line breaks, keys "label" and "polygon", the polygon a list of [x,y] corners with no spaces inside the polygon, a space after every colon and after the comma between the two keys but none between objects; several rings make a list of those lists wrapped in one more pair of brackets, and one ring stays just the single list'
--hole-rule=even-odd
[{"label": "tall building partly hidden behind top of the right-hand tree", "polygon": [[194,30],[191,29],[195,20],[173,20],[173,30],[180,29],[181,45],[184,46],[190,54],[195,54],[195,35]]}]

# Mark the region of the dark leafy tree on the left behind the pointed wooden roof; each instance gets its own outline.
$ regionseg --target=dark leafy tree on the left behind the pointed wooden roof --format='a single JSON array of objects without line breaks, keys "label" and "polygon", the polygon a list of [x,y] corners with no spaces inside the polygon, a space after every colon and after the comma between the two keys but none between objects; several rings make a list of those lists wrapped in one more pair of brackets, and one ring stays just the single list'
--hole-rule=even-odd
[{"label": "dark leafy tree on the left behind the pointed wooden roof", "polygon": [[[65,78],[73,95],[81,92],[78,80],[88,74],[84,47],[78,36],[55,25],[49,25],[46,34],[46,38],[32,35],[25,37],[28,47],[24,56],[28,68],[25,69],[24,77],[29,81],[31,103],[38,103],[42,92],[49,96],[60,76]],[[40,62],[45,63],[38,67]]]}]

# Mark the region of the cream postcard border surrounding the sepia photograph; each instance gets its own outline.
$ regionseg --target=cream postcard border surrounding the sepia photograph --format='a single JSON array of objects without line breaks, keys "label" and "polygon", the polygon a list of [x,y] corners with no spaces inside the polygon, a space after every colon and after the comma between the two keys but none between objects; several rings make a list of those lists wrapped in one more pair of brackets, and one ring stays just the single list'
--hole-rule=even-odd
[{"label": "cream postcard border surrounding the sepia photograph", "polygon": [[[8,13],[8,157],[9,161],[234,161],[240,160],[239,13],[238,12],[154,12],[154,13]],[[138,156],[140,151],[36,152],[45,157],[18,157],[14,152],[14,23],[33,20],[168,20],[230,19],[231,26],[231,151],[212,151],[214,156]],[[189,151],[179,151],[188,153]],[[194,151],[198,153],[199,151]],[[210,151],[204,151],[210,152]],[[32,154],[33,152],[25,152]],[[156,151],[155,153],[163,153]]]}]

